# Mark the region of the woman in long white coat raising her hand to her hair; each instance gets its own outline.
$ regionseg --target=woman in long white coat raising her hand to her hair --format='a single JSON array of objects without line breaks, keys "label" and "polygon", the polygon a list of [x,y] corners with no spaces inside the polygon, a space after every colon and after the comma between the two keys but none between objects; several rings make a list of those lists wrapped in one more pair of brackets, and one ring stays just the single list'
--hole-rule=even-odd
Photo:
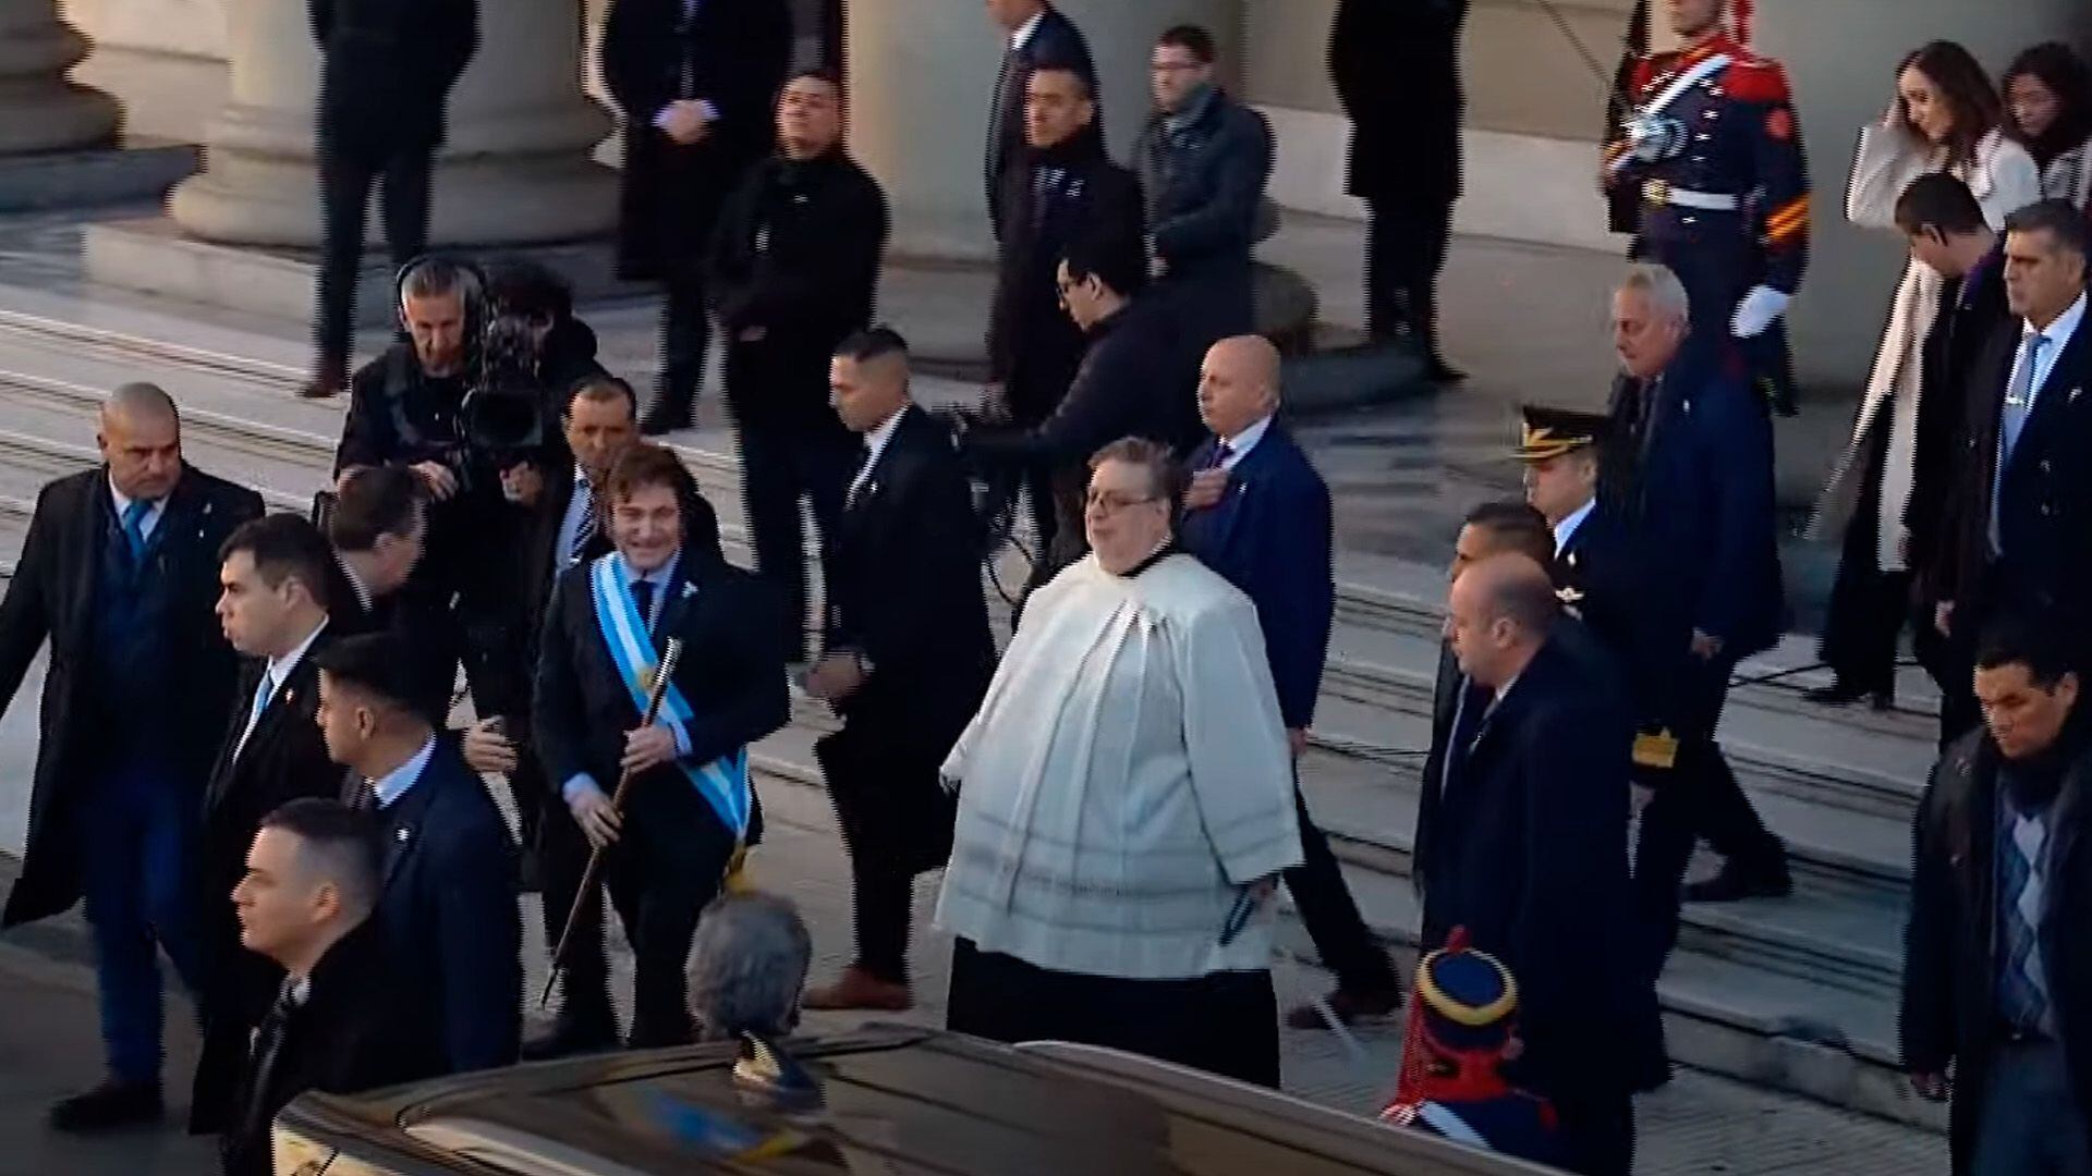
[{"label": "woman in long white coat raising her hand to her hair", "polygon": [[[1958,44],[1933,42],[1904,59],[1895,100],[1881,123],[1860,130],[1845,216],[1864,228],[1895,228],[1895,201],[1927,172],[1969,184],[1992,228],[2042,199],[2042,178],[2023,146],[2004,134],[2004,107],[1983,67]],[[1910,603],[1910,534],[1904,508],[1918,477],[1918,400],[1954,395],[1925,387],[1925,335],[1939,312],[1943,278],[1916,257],[1904,268],[1860,402],[1845,460],[1816,511],[1816,538],[1843,536],[1822,659],[1837,674],[1812,699],[1845,705],[1895,697],[1895,642]]]}]

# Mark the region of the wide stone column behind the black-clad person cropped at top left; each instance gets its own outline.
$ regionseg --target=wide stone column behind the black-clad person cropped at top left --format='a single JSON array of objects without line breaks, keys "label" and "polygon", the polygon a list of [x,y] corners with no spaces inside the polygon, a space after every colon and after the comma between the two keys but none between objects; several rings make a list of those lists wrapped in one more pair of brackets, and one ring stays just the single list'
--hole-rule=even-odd
[{"label": "wide stone column behind the black-clad person cropped at top left", "polygon": [[[167,211],[203,241],[316,247],[320,61],[305,2],[230,0],[226,33],[232,100],[205,134],[203,172],[174,188]],[[479,52],[450,94],[429,239],[525,245],[609,230],[617,178],[590,159],[609,132],[582,94],[577,6],[483,0]]]}]

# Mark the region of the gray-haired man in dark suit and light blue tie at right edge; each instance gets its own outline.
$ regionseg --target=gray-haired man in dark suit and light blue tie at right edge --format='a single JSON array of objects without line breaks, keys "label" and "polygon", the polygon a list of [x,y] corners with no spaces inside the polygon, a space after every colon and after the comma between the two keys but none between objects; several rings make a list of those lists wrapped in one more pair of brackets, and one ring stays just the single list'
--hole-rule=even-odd
[{"label": "gray-haired man in dark suit and light blue tie at right edge", "polygon": [[2092,624],[2092,329],[2086,220],[2063,201],[2004,222],[2004,291],[2017,322],[1975,364],[1962,429],[1939,619],[1973,640],[1994,617],[2059,632]]}]

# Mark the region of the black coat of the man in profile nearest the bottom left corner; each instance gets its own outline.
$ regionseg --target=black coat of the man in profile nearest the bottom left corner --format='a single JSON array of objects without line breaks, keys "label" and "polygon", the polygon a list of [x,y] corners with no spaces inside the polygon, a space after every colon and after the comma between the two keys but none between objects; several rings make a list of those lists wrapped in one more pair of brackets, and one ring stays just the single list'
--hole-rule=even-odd
[{"label": "black coat of the man in profile nearest the bottom left corner", "polygon": [[431,1025],[404,1000],[377,919],[335,942],[312,969],[305,1002],[285,1023],[266,1080],[249,1053],[234,1096],[236,1117],[220,1140],[226,1176],[270,1176],[270,1126],[308,1090],[358,1094],[441,1073]]}]

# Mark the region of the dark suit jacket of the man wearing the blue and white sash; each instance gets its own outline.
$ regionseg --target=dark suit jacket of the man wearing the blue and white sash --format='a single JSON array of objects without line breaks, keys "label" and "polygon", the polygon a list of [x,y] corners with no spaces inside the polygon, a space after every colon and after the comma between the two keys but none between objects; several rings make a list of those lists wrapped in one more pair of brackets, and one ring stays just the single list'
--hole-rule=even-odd
[{"label": "dark suit jacket of the man wearing the blue and white sash", "polygon": [[[531,732],[552,789],[588,774],[609,793],[617,787],[626,732],[638,728],[642,716],[596,628],[588,573],[588,565],[567,569],[546,613]],[[791,722],[776,611],[770,590],[726,563],[718,540],[709,550],[697,540],[684,544],[653,636],[655,653],[667,649],[669,636],[684,642],[676,688],[695,711],[688,764],[709,764]],[[636,797],[651,787],[688,789],[690,783],[663,764],[632,781]]]}]

